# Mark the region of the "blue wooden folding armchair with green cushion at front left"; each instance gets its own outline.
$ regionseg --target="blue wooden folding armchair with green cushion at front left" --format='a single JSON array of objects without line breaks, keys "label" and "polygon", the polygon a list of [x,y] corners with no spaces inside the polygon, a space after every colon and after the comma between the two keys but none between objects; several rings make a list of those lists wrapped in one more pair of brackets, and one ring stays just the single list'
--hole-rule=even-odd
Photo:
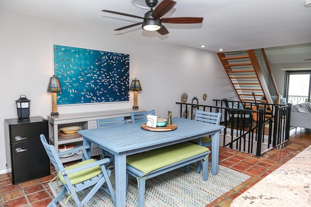
[{"label": "blue wooden folding armchair with green cushion at front left", "polygon": [[[56,195],[48,207],[57,207],[56,203],[63,197],[66,191],[69,195],[69,198],[72,197],[74,199],[76,206],[84,207],[100,188],[103,188],[104,191],[106,191],[112,197],[113,202],[116,204],[116,195],[109,180],[111,172],[110,170],[106,170],[104,166],[104,164],[108,162],[109,159],[102,159],[98,161],[95,159],[88,159],[86,153],[88,146],[81,146],[67,150],[65,152],[57,153],[55,147],[48,144],[43,134],[40,135],[40,140],[52,164],[55,167],[58,179],[64,185],[64,189],[58,195]],[[59,156],[80,150],[83,152],[82,154],[85,158],[85,161],[64,167]],[[104,183],[107,184],[107,187],[104,186]],[[93,188],[87,193],[83,200],[80,201],[77,196],[77,192],[91,186],[93,186]]]}]

